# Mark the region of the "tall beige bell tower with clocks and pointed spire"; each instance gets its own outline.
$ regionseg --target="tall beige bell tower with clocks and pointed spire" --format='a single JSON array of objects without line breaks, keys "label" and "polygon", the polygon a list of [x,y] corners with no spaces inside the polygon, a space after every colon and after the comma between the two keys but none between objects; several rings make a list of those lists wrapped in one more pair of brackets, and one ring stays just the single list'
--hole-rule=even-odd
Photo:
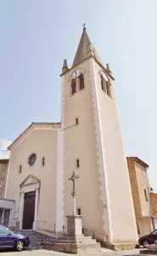
[{"label": "tall beige bell tower with clocks and pointed spire", "polygon": [[[86,235],[106,245],[137,241],[132,192],[121,138],[115,79],[83,28],[72,67],[62,68],[60,224],[72,214],[68,178],[75,170],[76,212]],[[59,225],[59,221],[58,221]]]}]

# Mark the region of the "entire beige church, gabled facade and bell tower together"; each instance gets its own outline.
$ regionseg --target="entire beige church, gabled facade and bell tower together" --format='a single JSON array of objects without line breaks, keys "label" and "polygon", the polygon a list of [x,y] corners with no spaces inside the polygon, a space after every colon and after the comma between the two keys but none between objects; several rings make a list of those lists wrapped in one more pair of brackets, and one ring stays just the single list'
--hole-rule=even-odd
[{"label": "entire beige church, gabled facade and bell tower together", "polygon": [[61,73],[60,123],[32,123],[8,147],[4,201],[11,226],[66,232],[76,214],[87,236],[109,244],[137,242],[132,189],[121,137],[115,79],[83,28],[72,67]]}]

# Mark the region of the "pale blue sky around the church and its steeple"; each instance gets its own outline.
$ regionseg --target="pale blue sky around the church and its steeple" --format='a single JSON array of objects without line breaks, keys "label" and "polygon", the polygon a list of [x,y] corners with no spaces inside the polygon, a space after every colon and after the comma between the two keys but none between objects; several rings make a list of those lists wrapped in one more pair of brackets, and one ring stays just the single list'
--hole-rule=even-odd
[{"label": "pale blue sky around the church and its steeple", "polygon": [[59,121],[59,74],[86,22],[115,76],[126,154],[149,164],[157,192],[156,9],[156,0],[0,1],[0,138],[13,141],[32,121]]}]

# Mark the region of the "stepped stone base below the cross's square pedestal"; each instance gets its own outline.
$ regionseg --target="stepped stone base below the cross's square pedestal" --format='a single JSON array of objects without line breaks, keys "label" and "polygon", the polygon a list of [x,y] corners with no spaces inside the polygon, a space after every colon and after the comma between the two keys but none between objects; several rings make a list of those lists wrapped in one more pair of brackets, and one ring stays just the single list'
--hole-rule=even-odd
[{"label": "stepped stone base below the cross's square pedestal", "polygon": [[100,253],[101,247],[89,236],[64,236],[44,244],[44,248],[62,253]]}]

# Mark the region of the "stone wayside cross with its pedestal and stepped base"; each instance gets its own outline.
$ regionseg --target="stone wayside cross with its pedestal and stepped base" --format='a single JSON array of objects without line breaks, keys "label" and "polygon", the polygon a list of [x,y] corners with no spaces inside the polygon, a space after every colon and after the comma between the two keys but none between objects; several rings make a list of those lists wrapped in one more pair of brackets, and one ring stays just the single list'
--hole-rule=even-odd
[{"label": "stone wayside cross with its pedestal and stepped base", "polygon": [[75,172],[69,178],[73,183],[71,192],[73,199],[73,215],[66,216],[67,218],[67,234],[54,242],[46,242],[45,248],[63,253],[100,253],[101,248],[98,242],[93,241],[92,237],[82,235],[82,216],[76,215],[76,176]]}]

